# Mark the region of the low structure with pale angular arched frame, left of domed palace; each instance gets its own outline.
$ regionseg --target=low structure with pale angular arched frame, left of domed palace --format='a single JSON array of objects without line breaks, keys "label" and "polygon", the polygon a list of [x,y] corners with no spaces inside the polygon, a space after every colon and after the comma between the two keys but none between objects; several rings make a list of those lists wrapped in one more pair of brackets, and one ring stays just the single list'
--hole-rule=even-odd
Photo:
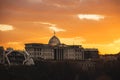
[{"label": "low structure with pale angular arched frame, left of domed palace", "polygon": [[27,52],[19,50],[6,50],[4,64],[8,65],[34,65],[34,61]]}]

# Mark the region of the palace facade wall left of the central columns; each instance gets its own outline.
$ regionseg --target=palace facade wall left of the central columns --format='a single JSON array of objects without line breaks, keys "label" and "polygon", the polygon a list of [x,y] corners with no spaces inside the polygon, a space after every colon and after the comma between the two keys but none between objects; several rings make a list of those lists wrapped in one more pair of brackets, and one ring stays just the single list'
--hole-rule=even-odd
[{"label": "palace facade wall left of the central columns", "polygon": [[39,59],[54,59],[53,49],[44,46],[33,46],[32,44],[26,45],[26,51],[31,55],[32,58]]}]

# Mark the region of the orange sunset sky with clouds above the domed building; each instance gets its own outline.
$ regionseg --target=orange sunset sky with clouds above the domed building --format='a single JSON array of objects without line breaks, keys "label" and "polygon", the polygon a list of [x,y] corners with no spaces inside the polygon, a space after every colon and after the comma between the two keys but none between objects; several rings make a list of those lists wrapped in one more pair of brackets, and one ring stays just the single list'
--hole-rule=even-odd
[{"label": "orange sunset sky with clouds above the domed building", "polygon": [[0,0],[0,46],[61,43],[120,51],[120,0]]}]

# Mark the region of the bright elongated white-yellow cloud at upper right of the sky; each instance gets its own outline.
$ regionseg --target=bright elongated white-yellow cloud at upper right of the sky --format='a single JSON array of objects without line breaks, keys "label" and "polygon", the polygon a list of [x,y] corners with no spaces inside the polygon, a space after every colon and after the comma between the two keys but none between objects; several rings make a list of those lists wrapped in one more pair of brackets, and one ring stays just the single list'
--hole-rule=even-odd
[{"label": "bright elongated white-yellow cloud at upper right of the sky", "polygon": [[87,20],[95,20],[95,21],[99,21],[105,18],[103,15],[97,15],[97,14],[78,14],[77,16],[79,19],[82,20],[87,19]]}]

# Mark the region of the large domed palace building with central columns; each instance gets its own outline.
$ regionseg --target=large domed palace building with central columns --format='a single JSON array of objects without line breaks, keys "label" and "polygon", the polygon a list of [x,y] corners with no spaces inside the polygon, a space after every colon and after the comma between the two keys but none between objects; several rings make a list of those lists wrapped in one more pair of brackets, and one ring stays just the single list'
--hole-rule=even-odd
[{"label": "large domed palace building with central columns", "polygon": [[48,44],[27,43],[25,50],[34,60],[85,60],[97,58],[97,49],[84,49],[81,45],[61,44],[55,34],[50,38]]}]

